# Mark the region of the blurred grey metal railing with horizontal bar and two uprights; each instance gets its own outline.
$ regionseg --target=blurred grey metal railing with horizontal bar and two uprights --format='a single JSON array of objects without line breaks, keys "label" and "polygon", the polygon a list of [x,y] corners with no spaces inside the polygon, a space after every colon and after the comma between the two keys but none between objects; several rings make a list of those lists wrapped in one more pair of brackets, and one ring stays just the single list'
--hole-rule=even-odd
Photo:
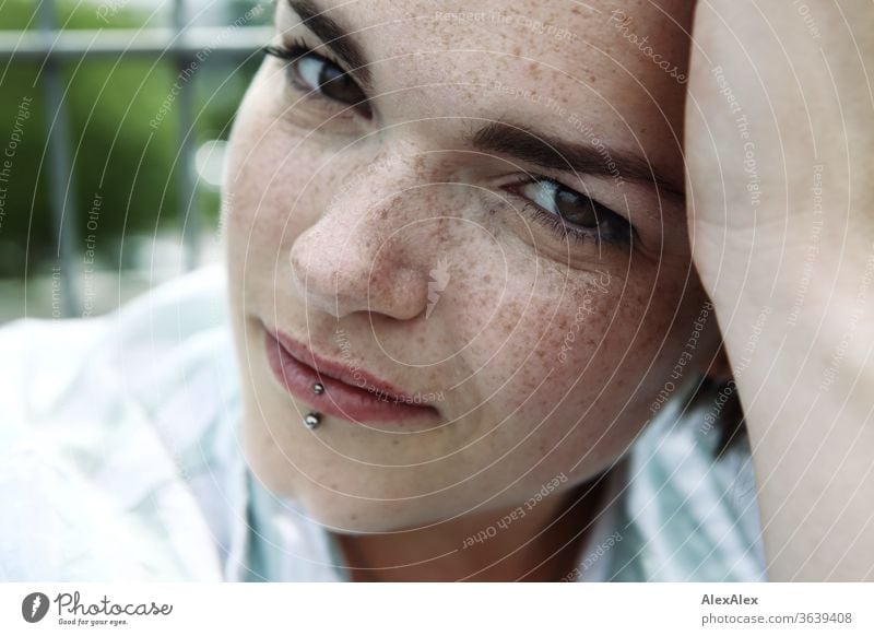
[{"label": "blurred grey metal railing with horizontal bar and two uprights", "polygon": [[[63,313],[73,316],[80,307],[79,273],[75,262],[76,237],[73,231],[78,216],[75,210],[74,179],[70,161],[70,126],[64,101],[61,62],[123,57],[157,58],[172,61],[182,76],[204,51],[210,58],[245,59],[256,52],[270,38],[271,28],[246,26],[238,20],[233,25],[216,27],[187,27],[185,10],[187,0],[173,0],[172,27],[141,30],[69,30],[58,31],[55,0],[40,0],[36,9],[34,31],[0,31],[0,60],[7,63],[42,61],[39,83],[46,102],[44,125],[47,132],[48,195],[57,239],[56,257],[61,269]],[[265,9],[269,2],[259,4]],[[228,30],[233,28],[233,37]],[[193,82],[197,73],[177,82],[179,90],[174,102],[178,123],[179,176],[178,202],[182,222],[182,243],[186,268],[196,267],[200,258],[199,237],[201,213],[197,207],[197,175],[193,148]],[[40,163],[42,166],[42,163]],[[42,169],[42,167],[40,167]]]}]

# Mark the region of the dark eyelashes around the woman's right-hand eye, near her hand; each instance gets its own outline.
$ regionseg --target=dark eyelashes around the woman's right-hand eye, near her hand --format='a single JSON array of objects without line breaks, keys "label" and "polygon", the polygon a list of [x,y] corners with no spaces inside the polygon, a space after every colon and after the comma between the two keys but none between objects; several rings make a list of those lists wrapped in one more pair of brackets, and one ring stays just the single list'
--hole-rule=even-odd
[{"label": "dark eyelashes around the woman's right-hand eye, near her hand", "polygon": [[[555,185],[557,188],[562,188],[564,190],[571,191],[579,197],[588,199],[599,208],[602,208],[606,212],[606,217],[603,223],[612,223],[614,225],[619,225],[621,228],[615,233],[602,233],[599,231],[591,231],[586,229],[583,227],[578,227],[572,225],[571,223],[565,222],[560,216],[554,214],[553,212],[548,212],[538,205],[536,203],[531,202],[528,197],[518,193],[515,191],[516,188],[521,186],[528,186],[531,184],[538,182],[547,182]],[[594,199],[582,195],[572,188],[568,188],[559,181],[555,179],[551,179],[548,177],[543,177],[540,175],[522,175],[518,178],[517,181],[505,186],[505,188],[512,193],[521,198],[524,201],[524,205],[522,207],[522,211],[528,213],[536,223],[540,223],[543,227],[546,227],[551,232],[553,232],[560,240],[572,240],[575,245],[583,245],[587,240],[594,242],[594,245],[600,246],[602,244],[607,244],[616,247],[628,247],[634,244],[637,238],[637,231],[635,229],[634,225],[631,225],[624,216],[613,212],[610,208],[595,201]]]}]

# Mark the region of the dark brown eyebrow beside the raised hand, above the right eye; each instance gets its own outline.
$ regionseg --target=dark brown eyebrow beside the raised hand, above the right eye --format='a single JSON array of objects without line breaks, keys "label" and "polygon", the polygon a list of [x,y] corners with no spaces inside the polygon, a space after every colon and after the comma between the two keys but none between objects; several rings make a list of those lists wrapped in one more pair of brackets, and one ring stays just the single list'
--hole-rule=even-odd
[{"label": "dark brown eyebrow beside the raised hand, above the right eye", "polygon": [[617,181],[658,187],[661,193],[678,201],[684,201],[686,197],[683,188],[662,176],[642,156],[611,149],[600,142],[568,142],[527,126],[491,121],[472,136],[471,145],[481,152],[508,155],[546,169],[613,177]]}]

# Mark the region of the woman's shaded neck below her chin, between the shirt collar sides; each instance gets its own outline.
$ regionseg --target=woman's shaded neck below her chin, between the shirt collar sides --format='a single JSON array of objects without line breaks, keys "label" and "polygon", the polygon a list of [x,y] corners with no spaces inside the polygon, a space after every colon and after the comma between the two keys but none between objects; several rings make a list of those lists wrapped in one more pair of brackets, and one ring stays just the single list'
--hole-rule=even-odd
[{"label": "woman's shaded neck below her chin, between the shirt collar sides", "polygon": [[428,528],[338,534],[353,580],[550,581],[570,573],[605,504],[602,479],[566,494],[492,509]]}]

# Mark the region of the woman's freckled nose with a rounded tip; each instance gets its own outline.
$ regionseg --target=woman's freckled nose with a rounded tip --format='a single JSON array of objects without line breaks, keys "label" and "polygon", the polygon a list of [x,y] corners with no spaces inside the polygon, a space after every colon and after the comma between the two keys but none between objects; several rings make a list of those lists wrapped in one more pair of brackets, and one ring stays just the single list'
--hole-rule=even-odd
[{"label": "woman's freckled nose with a rounded tip", "polygon": [[[434,224],[408,182],[368,175],[292,245],[294,284],[308,309],[415,318],[427,308],[427,239]],[[380,197],[380,193],[382,196]]]}]

